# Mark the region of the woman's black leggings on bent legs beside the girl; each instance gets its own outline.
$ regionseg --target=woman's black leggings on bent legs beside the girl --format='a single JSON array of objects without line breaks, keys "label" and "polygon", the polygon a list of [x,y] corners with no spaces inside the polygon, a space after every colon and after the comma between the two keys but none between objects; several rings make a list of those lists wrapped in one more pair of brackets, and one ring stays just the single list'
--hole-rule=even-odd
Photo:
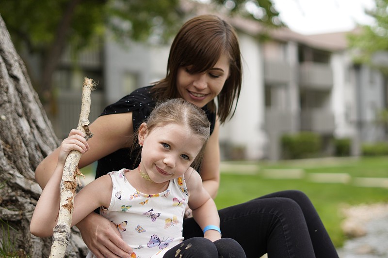
[{"label": "woman's black leggings on bent legs beside the girl", "polygon": [[[218,211],[222,236],[241,244],[247,258],[338,258],[309,198],[282,191]],[[183,237],[203,236],[193,218],[185,219]]]}]

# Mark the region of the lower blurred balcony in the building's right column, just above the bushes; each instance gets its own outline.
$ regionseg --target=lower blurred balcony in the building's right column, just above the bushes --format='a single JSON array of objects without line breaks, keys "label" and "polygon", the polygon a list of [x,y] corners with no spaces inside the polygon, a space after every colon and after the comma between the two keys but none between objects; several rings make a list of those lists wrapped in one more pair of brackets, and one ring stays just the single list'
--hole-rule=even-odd
[{"label": "lower blurred balcony in the building's right column, just above the bushes", "polygon": [[335,129],[334,114],[324,109],[302,110],[301,130],[332,134]]}]

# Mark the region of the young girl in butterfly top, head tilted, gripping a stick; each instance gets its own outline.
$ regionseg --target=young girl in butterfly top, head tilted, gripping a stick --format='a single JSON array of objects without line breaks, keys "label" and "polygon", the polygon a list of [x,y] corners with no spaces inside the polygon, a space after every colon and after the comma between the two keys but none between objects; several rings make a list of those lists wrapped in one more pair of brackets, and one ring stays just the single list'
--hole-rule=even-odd
[{"label": "young girl in butterfly top, head tilted, gripping a stick", "polygon": [[[100,207],[100,213],[116,225],[132,248],[130,257],[244,258],[237,242],[221,239],[214,201],[191,167],[199,164],[209,135],[210,123],[202,109],[183,99],[163,102],[140,125],[137,139],[143,149],[139,167],[110,172],[85,186],[74,200],[72,226]],[[57,167],[32,216],[33,235],[53,234],[67,154],[88,149],[79,130],[72,130],[62,142]],[[183,241],[188,203],[204,238]]]}]

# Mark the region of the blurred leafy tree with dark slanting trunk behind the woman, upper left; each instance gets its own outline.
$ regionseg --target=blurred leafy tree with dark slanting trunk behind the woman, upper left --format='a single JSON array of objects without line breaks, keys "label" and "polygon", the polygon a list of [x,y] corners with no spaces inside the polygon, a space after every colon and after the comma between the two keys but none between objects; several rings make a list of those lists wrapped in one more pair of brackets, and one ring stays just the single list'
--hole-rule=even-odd
[{"label": "blurred leafy tree with dark slanting trunk behind the woman, upper left", "polygon": [[[0,14],[19,53],[27,51],[42,60],[37,69],[40,72],[30,76],[42,102],[46,103],[51,96],[51,77],[65,46],[79,50],[101,36],[105,29],[113,31],[118,39],[146,41],[150,34],[157,34],[161,40],[169,39],[182,24],[185,10],[181,2],[184,1],[2,0]],[[281,25],[270,0],[210,2],[216,10],[222,6],[230,15],[251,17],[268,26]]]}]

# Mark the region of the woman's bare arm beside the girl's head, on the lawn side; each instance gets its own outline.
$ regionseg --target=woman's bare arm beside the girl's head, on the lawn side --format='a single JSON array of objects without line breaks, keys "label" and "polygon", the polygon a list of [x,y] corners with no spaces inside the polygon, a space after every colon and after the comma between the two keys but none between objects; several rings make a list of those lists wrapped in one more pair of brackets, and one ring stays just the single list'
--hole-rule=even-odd
[{"label": "woman's bare arm beside the girl's head, on the lawn side", "polygon": [[220,122],[216,120],[214,130],[206,144],[205,153],[201,163],[201,178],[203,187],[214,199],[220,185]]}]

